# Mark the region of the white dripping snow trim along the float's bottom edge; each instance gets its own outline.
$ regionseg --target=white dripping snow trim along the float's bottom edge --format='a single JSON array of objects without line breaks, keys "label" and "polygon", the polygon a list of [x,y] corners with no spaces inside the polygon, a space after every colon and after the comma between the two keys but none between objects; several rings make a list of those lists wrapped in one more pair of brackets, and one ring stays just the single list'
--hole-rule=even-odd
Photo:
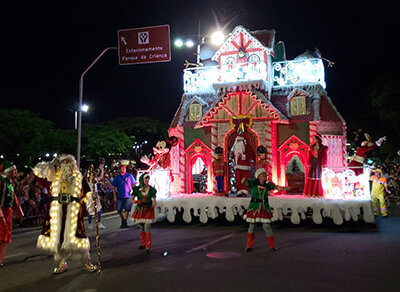
[{"label": "white dripping snow trim along the float's bottom edge", "polygon": [[[175,221],[177,211],[183,211],[182,218],[185,222],[192,221],[193,215],[199,217],[201,223],[207,223],[208,218],[215,219],[219,214],[225,213],[227,221],[232,222],[236,215],[245,219],[250,198],[227,198],[204,194],[191,194],[172,196],[168,199],[157,200],[155,215],[165,215],[169,222]],[[306,219],[308,208],[312,209],[314,223],[321,224],[323,217],[331,218],[337,225],[344,220],[358,221],[362,211],[362,219],[367,223],[374,223],[375,216],[371,200],[332,200],[324,198],[308,198],[303,195],[278,195],[270,196],[269,204],[273,216],[272,221],[283,220],[283,216],[290,215],[293,224],[299,224],[301,219]]]}]

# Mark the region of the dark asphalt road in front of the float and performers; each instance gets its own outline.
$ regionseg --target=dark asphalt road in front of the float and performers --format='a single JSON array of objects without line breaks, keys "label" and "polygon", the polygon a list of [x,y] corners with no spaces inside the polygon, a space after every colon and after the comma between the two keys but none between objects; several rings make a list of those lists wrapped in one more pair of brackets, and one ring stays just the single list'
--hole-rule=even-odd
[{"label": "dark asphalt road in front of the float and performers", "polygon": [[[16,229],[0,269],[0,291],[400,291],[400,212],[391,211],[376,224],[273,223],[276,252],[259,226],[248,253],[240,219],[157,222],[146,254],[137,249],[140,230],[119,229],[111,214],[101,231],[103,271],[92,274],[72,260],[67,272],[53,275],[52,257],[35,247],[39,230]],[[89,236],[95,262],[94,232]]]}]

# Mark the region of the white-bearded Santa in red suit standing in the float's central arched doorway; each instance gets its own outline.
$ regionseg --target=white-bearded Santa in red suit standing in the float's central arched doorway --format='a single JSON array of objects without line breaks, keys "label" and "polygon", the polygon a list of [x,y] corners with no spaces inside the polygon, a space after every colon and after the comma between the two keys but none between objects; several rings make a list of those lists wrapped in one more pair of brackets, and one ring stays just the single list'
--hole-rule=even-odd
[{"label": "white-bearded Santa in red suit standing in the float's central arched doorway", "polygon": [[238,196],[247,196],[248,187],[243,184],[244,179],[251,178],[251,157],[248,153],[246,140],[243,136],[237,136],[232,153],[235,163],[236,190]]}]

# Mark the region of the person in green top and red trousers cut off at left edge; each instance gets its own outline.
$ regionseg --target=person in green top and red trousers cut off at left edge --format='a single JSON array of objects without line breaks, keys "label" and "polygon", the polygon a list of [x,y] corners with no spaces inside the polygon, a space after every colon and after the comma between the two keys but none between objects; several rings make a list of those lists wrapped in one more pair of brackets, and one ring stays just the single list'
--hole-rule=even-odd
[{"label": "person in green top and red trousers cut off at left edge", "polygon": [[11,242],[12,213],[22,220],[24,213],[14,192],[12,179],[17,175],[17,168],[11,162],[0,165],[0,267],[4,266],[7,247]]}]

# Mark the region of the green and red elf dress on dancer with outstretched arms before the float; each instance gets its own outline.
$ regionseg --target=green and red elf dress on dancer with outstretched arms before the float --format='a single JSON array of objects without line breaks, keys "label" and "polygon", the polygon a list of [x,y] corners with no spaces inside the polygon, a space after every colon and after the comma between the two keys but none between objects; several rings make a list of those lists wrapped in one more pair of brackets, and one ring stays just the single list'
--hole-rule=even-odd
[{"label": "green and red elf dress on dancer with outstretched arms before the float", "polygon": [[245,219],[249,223],[270,223],[272,213],[269,208],[268,196],[271,190],[276,188],[272,182],[267,182],[265,186],[259,186],[256,180],[247,180],[251,199],[247,207]]}]

